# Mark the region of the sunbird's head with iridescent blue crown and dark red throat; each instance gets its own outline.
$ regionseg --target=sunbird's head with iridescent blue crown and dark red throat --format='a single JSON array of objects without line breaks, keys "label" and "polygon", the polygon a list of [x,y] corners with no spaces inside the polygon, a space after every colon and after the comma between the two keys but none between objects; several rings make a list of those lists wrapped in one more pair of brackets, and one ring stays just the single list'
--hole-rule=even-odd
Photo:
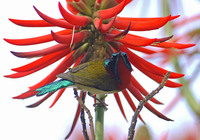
[{"label": "sunbird's head with iridescent blue crown and dark red throat", "polygon": [[112,54],[110,58],[105,60],[104,65],[105,68],[115,76],[120,84],[122,83],[122,79],[120,79],[121,75],[124,75],[124,72],[126,71],[129,73],[132,71],[131,64],[125,52]]}]

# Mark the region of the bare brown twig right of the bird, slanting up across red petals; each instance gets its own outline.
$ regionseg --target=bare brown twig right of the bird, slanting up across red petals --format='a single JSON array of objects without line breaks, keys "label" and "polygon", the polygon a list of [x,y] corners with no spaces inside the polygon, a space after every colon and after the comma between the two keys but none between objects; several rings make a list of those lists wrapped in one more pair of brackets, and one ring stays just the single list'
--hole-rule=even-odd
[{"label": "bare brown twig right of the bird, slanting up across red petals", "polygon": [[137,118],[139,116],[139,113],[141,112],[144,104],[146,102],[148,102],[154,95],[156,95],[165,85],[165,83],[167,82],[167,79],[169,78],[171,72],[168,71],[167,74],[163,77],[162,82],[160,83],[160,85],[153,90],[150,94],[148,94],[144,99],[142,99],[137,107],[137,109],[135,110],[135,114],[132,117],[132,121],[131,121],[131,126],[129,128],[129,132],[128,132],[128,138],[127,140],[133,140],[134,134],[135,134],[135,126],[137,123]]}]

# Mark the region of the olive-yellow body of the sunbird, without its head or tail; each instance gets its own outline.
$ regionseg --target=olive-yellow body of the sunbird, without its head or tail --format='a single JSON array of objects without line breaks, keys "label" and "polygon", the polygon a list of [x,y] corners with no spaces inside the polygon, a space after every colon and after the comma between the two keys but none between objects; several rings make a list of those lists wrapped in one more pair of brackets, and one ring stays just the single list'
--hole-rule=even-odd
[{"label": "olive-yellow body of the sunbird, without its head or tail", "polygon": [[115,79],[105,69],[104,61],[105,59],[101,59],[81,64],[66,73],[57,75],[57,77],[69,80],[77,88],[91,93],[94,93],[95,90],[96,93],[117,91]]}]

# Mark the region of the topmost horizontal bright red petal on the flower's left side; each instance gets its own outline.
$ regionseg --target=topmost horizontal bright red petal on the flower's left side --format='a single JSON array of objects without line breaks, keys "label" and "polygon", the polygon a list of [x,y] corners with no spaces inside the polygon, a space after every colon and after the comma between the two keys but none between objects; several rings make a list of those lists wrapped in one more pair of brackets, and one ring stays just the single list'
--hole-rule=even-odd
[{"label": "topmost horizontal bright red petal on the flower's left side", "polygon": [[24,27],[49,27],[53,26],[44,20],[20,20],[20,19],[9,19],[14,24]]}]

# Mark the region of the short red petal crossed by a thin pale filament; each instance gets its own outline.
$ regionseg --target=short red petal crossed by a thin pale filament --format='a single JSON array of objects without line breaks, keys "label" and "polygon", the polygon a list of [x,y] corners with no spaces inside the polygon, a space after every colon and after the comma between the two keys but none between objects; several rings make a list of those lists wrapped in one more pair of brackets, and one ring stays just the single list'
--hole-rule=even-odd
[{"label": "short red petal crossed by a thin pale filament", "polygon": [[51,31],[51,34],[55,41],[61,44],[71,44],[72,40],[73,43],[77,43],[82,41],[83,39],[87,38],[90,35],[89,31],[80,31],[70,35],[58,35]]}]

